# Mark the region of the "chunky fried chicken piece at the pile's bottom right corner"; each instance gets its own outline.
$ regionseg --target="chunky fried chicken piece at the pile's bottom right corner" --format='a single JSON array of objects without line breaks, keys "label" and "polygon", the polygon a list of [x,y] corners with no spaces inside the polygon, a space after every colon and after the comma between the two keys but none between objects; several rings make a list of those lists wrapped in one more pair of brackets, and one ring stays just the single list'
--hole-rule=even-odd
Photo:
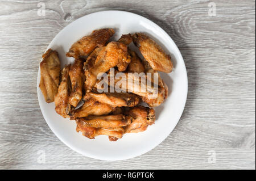
[{"label": "chunky fried chicken piece at the pile's bottom right corner", "polygon": [[155,123],[155,111],[149,107],[137,106],[133,107],[127,113],[132,123],[125,127],[125,133],[138,133],[147,129],[148,125]]}]

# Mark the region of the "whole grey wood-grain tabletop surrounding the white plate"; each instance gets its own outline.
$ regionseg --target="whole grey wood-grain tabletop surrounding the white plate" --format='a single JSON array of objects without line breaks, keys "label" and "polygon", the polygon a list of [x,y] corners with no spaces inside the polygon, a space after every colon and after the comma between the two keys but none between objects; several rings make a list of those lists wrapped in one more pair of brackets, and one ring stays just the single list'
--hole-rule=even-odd
[{"label": "whole grey wood-grain tabletop surrounding the white plate", "polygon": [[[38,3],[46,16],[38,15]],[[216,16],[209,16],[209,3]],[[64,145],[39,108],[40,57],[73,20],[125,10],[162,27],[188,71],[188,99],[174,131],[127,161],[99,161]],[[0,0],[0,169],[255,169],[255,1]],[[40,150],[46,162],[38,162]],[[216,161],[211,162],[213,152]]]}]

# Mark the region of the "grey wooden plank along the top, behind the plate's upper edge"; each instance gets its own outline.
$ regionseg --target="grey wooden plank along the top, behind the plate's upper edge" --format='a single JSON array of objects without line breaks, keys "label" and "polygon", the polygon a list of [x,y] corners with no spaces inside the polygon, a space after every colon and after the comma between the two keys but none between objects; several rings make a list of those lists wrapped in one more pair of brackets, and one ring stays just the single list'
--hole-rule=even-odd
[{"label": "grey wooden plank along the top, behind the plate's upper edge", "polygon": [[72,6],[68,1],[46,1],[46,16],[37,15],[38,2],[2,2],[2,45],[47,45],[62,28],[81,16],[102,10],[125,10],[159,24],[179,47],[255,47],[255,2],[251,0],[214,1],[216,16],[208,15],[209,1],[101,0],[76,1]]}]

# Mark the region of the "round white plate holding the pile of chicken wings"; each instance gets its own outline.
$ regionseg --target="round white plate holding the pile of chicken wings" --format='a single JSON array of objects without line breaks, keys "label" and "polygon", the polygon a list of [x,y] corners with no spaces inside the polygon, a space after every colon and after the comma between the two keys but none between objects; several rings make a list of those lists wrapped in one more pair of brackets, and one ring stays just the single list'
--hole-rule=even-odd
[{"label": "round white plate holding the pile of chicken wings", "polygon": [[[65,64],[73,62],[73,58],[66,57],[65,53],[75,41],[82,36],[89,35],[93,30],[106,27],[115,29],[114,40],[125,33],[146,32],[171,54],[174,70],[170,74],[161,73],[170,92],[168,99],[161,106],[155,108],[155,124],[149,126],[144,132],[125,134],[115,142],[109,141],[108,136],[98,136],[94,140],[90,140],[76,132],[75,121],[64,119],[55,112],[54,103],[48,104],[44,101],[39,87],[38,101],[44,119],[52,132],[69,148],[91,158],[116,161],[137,157],[150,151],[172,132],[184,110],[188,83],[183,58],[171,37],[151,20],[131,12],[101,11],[83,16],[61,30],[48,48],[57,50],[61,67],[63,67]],[[40,69],[38,71],[38,85],[39,81]]]}]

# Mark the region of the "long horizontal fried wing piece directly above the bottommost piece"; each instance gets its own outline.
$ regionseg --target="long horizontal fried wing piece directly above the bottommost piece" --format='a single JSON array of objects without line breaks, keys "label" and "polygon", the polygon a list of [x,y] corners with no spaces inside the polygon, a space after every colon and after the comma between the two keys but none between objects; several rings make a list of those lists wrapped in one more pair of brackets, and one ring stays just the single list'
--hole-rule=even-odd
[{"label": "long horizontal fried wing piece directly above the bottommost piece", "polygon": [[88,116],[77,119],[77,123],[82,127],[117,128],[131,124],[131,119],[126,119],[123,115]]}]

